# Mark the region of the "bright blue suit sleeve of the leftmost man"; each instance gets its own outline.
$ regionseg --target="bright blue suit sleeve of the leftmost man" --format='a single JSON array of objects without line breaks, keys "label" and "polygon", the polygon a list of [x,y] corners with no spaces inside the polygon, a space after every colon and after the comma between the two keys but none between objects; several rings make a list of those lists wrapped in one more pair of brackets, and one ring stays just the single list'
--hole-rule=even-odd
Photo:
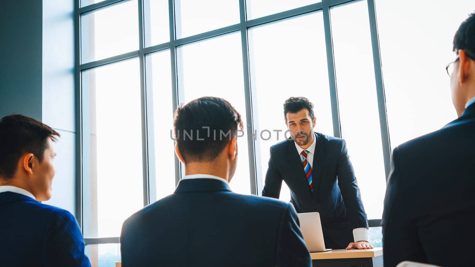
[{"label": "bright blue suit sleeve of the leftmost man", "polygon": [[45,266],[90,267],[84,238],[74,216],[66,210],[52,213],[43,246]]}]

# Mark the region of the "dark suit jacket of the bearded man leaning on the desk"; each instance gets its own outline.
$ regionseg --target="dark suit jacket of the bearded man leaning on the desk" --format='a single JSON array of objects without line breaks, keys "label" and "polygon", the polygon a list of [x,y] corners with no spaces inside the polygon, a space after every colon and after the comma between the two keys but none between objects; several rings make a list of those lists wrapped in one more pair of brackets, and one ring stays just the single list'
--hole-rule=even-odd
[{"label": "dark suit jacket of the bearded man leaning on the desk", "polygon": [[325,246],[346,248],[352,229],[368,227],[353,166],[343,139],[315,133],[310,190],[294,140],[270,148],[269,167],[262,195],[279,198],[282,180],[291,192],[298,213],[319,212]]}]

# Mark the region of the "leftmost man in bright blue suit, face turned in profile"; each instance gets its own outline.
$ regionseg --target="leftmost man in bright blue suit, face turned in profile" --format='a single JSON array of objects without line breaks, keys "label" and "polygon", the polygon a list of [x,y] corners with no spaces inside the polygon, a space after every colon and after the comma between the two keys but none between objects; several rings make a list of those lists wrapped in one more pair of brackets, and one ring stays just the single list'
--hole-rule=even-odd
[{"label": "leftmost man in bright blue suit, face turned in profile", "polygon": [[51,198],[55,136],[23,115],[0,120],[0,266],[90,266],[73,215],[39,202]]}]

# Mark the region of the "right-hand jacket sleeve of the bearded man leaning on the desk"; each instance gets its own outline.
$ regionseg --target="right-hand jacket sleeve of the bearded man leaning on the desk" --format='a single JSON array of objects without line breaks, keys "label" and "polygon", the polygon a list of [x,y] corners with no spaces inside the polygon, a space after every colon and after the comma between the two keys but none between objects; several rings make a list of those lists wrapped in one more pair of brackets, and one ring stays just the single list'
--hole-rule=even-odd
[{"label": "right-hand jacket sleeve of the bearded man leaning on the desk", "polygon": [[353,165],[350,162],[344,140],[342,140],[336,175],[351,229],[368,228],[368,219],[361,200],[360,188],[358,188]]}]

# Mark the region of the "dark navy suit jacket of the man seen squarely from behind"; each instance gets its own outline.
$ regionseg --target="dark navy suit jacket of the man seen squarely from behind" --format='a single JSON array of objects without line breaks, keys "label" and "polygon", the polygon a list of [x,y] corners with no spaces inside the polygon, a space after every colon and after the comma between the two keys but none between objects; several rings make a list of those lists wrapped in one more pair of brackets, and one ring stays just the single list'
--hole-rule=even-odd
[{"label": "dark navy suit jacket of the man seen squarely from behind", "polygon": [[123,267],[312,266],[292,205],[214,179],[182,180],[126,219],[121,252]]}]

